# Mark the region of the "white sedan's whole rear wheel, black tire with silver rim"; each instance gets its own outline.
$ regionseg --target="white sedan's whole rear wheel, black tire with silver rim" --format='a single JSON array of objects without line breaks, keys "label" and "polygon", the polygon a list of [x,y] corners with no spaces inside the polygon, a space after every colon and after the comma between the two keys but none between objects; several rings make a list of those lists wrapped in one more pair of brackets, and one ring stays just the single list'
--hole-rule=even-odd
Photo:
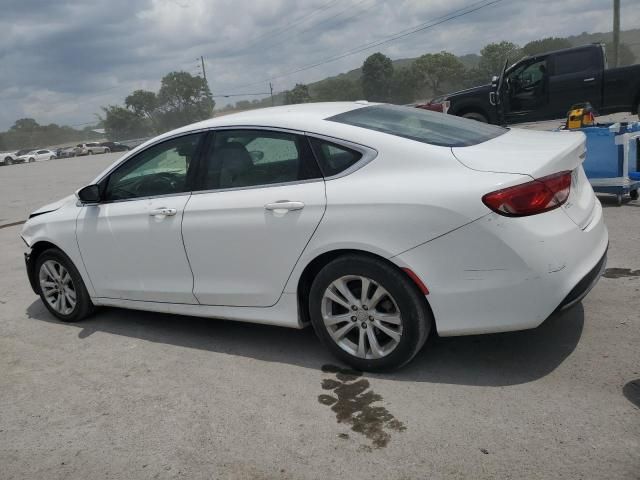
[{"label": "white sedan's whole rear wheel, black tire with silver rim", "polygon": [[[371,282],[365,298],[376,302],[370,309],[367,309],[367,301],[360,301],[363,278]],[[345,303],[347,296],[338,295],[346,306],[333,301],[338,291],[334,282],[340,281],[344,281],[342,285],[360,299]],[[374,297],[380,287],[388,293],[376,301]],[[322,344],[344,363],[364,371],[390,370],[408,363],[424,345],[433,324],[433,315],[424,296],[403,271],[385,261],[357,254],[339,257],[320,270],[311,285],[309,313]],[[396,319],[381,322],[384,314],[387,318],[395,315]],[[342,319],[327,326],[325,317]],[[395,338],[377,325],[391,331]],[[340,334],[339,330],[347,333],[334,340]],[[370,336],[376,337],[377,352]]]}]

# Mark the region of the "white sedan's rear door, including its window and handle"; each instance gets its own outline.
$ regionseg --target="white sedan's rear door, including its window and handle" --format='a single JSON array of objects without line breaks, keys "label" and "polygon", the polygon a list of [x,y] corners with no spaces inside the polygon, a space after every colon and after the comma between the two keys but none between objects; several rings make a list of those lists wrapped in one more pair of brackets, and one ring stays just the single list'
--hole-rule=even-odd
[{"label": "white sedan's rear door, including its window and handle", "polygon": [[202,304],[266,307],[284,286],[324,215],[325,185],[296,133],[217,131],[182,234]]}]

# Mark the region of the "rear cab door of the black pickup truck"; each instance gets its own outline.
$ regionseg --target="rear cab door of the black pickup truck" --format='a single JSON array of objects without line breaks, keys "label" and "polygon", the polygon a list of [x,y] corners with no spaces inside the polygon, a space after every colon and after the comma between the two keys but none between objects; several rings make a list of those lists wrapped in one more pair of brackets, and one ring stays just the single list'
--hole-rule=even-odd
[{"label": "rear cab door of the black pickup truck", "polygon": [[566,116],[572,105],[589,102],[598,109],[602,95],[602,57],[597,48],[570,50],[551,57],[549,106],[553,117]]}]

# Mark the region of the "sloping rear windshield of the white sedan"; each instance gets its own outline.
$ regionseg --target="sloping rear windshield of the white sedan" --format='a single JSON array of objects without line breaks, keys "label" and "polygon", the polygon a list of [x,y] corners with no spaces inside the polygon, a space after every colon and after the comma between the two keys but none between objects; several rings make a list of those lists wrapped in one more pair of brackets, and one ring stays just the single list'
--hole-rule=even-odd
[{"label": "sloping rear windshield of the white sedan", "polygon": [[507,132],[506,128],[421,108],[375,105],[327,120],[443,147],[468,147]]}]

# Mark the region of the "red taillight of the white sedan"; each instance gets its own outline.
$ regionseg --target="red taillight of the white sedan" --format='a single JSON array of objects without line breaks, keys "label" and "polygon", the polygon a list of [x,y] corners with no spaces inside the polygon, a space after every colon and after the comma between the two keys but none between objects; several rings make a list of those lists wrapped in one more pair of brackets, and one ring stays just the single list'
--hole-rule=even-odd
[{"label": "red taillight of the white sedan", "polygon": [[560,172],[487,193],[482,202],[500,215],[524,217],[558,208],[569,198],[570,189],[571,172]]}]

